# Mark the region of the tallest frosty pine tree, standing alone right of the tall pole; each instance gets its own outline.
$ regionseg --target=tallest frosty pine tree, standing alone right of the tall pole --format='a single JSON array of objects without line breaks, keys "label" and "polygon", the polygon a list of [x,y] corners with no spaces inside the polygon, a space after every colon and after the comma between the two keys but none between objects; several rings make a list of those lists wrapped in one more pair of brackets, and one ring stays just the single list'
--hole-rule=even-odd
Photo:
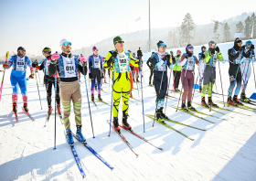
[{"label": "tallest frosty pine tree, standing alone right of the tall pole", "polygon": [[187,45],[188,43],[191,43],[190,39],[193,38],[191,36],[191,33],[192,33],[194,27],[195,27],[195,23],[192,19],[192,16],[189,13],[187,13],[181,26],[179,27],[180,46]]}]

